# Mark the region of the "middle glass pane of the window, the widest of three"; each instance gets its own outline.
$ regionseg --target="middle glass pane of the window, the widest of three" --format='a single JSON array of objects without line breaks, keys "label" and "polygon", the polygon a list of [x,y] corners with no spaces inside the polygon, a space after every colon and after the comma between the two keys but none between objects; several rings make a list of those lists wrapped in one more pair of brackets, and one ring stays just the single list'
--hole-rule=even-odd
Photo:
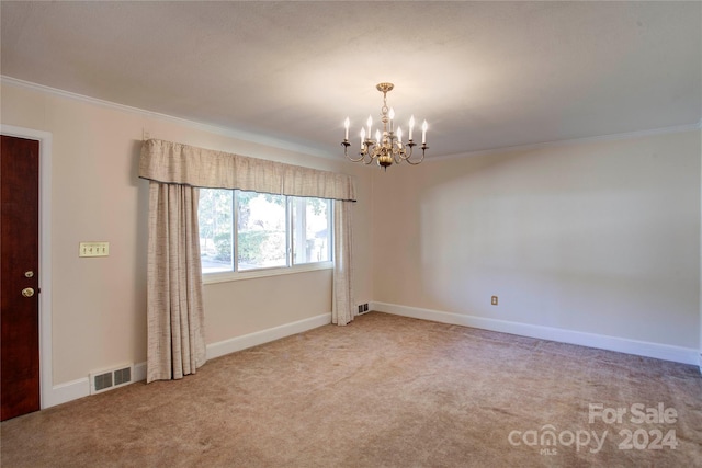
[{"label": "middle glass pane of the window, the widest of three", "polygon": [[284,195],[237,192],[239,271],[287,266]]}]

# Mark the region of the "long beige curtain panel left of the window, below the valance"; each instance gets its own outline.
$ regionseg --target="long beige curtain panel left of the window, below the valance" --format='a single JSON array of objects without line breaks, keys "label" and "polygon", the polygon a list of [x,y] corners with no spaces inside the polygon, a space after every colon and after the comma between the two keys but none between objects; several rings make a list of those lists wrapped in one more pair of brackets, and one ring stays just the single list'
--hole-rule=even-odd
[{"label": "long beige curtain panel left of the window, below the valance", "polygon": [[179,379],[205,364],[199,189],[149,183],[146,381]]}]

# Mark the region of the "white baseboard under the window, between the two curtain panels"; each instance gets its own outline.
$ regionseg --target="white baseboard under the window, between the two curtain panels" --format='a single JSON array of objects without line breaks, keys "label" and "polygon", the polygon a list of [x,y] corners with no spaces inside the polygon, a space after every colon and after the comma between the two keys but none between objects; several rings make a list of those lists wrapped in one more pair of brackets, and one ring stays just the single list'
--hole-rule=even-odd
[{"label": "white baseboard under the window, between the two curtain panels", "polygon": [[281,338],[302,333],[307,330],[312,330],[329,323],[331,323],[331,312],[298,320],[292,323],[285,323],[280,327],[261,330],[256,333],[249,333],[242,336],[236,336],[229,340],[219,341],[217,343],[212,343],[207,345],[207,358],[212,359],[215,357],[224,356],[226,354],[246,350],[247,347],[252,347],[259,344],[280,340]]}]

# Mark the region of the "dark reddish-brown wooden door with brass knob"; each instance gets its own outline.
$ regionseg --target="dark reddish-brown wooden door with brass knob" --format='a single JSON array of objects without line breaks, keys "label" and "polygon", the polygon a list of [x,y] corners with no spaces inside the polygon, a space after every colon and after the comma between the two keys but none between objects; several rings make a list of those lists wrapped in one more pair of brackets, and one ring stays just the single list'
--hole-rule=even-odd
[{"label": "dark reddish-brown wooden door with brass knob", "polygon": [[0,148],[0,420],[39,409],[39,142]]}]

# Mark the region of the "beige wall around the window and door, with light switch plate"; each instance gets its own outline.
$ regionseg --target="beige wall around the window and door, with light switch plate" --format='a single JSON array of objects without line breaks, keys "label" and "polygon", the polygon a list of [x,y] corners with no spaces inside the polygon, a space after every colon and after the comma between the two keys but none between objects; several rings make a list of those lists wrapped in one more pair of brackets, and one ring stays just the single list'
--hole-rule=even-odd
[{"label": "beige wall around the window and door, with light switch plate", "polygon": [[[146,361],[148,182],[138,179],[151,137],[355,175],[359,301],[371,299],[371,175],[343,156],[318,158],[208,132],[205,126],[3,83],[3,125],[53,135],[53,385],[86,388],[90,372]],[[110,256],[78,258],[80,241]],[[331,273],[314,271],[204,287],[207,344],[331,312]],[[81,396],[76,390],[73,396]]]}]

